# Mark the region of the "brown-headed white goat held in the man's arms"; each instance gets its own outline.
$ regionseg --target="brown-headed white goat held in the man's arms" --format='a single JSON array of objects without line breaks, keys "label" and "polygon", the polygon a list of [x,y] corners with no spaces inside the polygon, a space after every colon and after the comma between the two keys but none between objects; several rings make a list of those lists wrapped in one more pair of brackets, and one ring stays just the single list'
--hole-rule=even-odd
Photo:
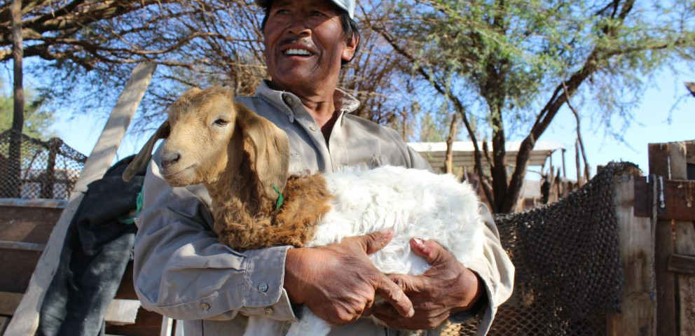
[{"label": "brown-headed white goat held in the man's arms", "polygon": [[[463,265],[483,258],[479,200],[453,176],[385,166],[288,177],[287,135],[235,103],[224,87],[188,90],[168,113],[124,179],[149,162],[157,139],[167,138],[158,162],[163,178],[172,186],[205,185],[214,231],[231,248],[322,246],[392,228],[390,244],[371,255],[385,273],[428,269],[411,253],[411,237],[436,239]],[[282,328],[282,322],[249,316],[245,335],[280,335]],[[305,308],[287,335],[329,331]]]}]

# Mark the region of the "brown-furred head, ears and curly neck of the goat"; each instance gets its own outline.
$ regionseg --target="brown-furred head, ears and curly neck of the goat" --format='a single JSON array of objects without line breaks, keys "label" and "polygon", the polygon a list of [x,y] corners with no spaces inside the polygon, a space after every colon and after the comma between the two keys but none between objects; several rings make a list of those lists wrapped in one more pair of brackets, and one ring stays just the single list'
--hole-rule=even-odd
[{"label": "brown-furred head, ears and curly neck of the goat", "polygon": [[[332,195],[324,178],[288,179],[287,135],[236,103],[228,88],[193,88],[184,93],[124,179],[138,171],[137,165],[149,162],[154,144],[163,137],[168,137],[158,162],[163,178],[172,186],[205,185],[212,198],[214,231],[222,244],[238,249],[300,247],[330,210]],[[203,144],[208,146],[202,148]],[[275,209],[275,188],[284,195],[280,209]]]}]

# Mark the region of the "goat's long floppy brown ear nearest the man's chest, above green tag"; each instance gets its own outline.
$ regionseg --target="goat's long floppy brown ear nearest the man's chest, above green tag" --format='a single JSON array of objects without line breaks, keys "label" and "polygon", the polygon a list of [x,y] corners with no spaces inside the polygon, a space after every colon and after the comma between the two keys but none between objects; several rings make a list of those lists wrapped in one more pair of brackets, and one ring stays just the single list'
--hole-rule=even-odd
[{"label": "goat's long floppy brown ear nearest the man's chest, above green tag", "polygon": [[287,134],[246,106],[239,103],[235,103],[234,106],[237,109],[237,123],[244,135],[244,147],[249,151],[251,169],[258,174],[266,196],[275,199],[275,188],[282,191],[287,183]]}]

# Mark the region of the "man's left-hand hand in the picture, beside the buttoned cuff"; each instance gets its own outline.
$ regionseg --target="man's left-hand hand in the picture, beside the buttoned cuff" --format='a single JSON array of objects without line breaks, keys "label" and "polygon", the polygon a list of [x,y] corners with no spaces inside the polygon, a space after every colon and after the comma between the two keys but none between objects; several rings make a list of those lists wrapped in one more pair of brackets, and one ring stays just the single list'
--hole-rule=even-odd
[{"label": "man's left-hand hand in the picture, beside the buttoned cuff", "polygon": [[390,303],[395,316],[413,316],[413,304],[403,290],[369,260],[369,254],[386,246],[392,237],[393,232],[387,230],[318,248],[290,248],[284,275],[289,299],[306,304],[332,325],[371,313],[375,294]]}]

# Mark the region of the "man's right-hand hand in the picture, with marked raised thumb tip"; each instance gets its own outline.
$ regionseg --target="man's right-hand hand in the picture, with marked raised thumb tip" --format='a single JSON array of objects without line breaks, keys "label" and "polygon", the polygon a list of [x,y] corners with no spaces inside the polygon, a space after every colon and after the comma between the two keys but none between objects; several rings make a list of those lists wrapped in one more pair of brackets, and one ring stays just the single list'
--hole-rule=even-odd
[{"label": "man's right-hand hand in the picture, with marked raised thumb tip", "polygon": [[374,316],[396,329],[434,329],[458,311],[470,309],[484,293],[482,281],[436,241],[411,239],[413,252],[432,265],[420,276],[392,274],[413,302],[415,315],[399,316],[387,302],[374,307]]}]

